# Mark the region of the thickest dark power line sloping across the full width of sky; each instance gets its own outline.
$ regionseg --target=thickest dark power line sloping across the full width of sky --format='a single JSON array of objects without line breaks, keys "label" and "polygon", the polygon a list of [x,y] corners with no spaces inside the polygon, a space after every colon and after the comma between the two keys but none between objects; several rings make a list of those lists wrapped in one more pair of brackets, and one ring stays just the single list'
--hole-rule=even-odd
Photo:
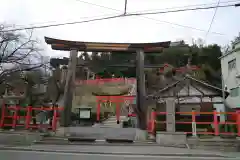
[{"label": "thickest dark power line sloping across the full width of sky", "polygon": [[155,14],[164,14],[164,13],[176,13],[176,12],[208,10],[208,9],[214,9],[214,8],[227,8],[227,7],[239,7],[239,6],[240,6],[240,3],[239,4],[210,6],[210,7],[186,8],[186,9],[177,9],[177,10],[169,10],[169,11],[159,11],[159,12],[128,13],[126,15],[120,14],[120,15],[116,15],[116,16],[96,18],[96,19],[85,20],[85,21],[75,21],[75,22],[68,22],[68,23],[59,23],[59,24],[51,24],[51,25],[42,25],[42,26],[23,27],[23,28],[2,30],[0,32],[20,31],[20,30],[28,30],[28,29],[40,29],[40,28],[56,27],[56,26],[63,26],[63,25],[88,23],[88,22],[101,21],[101,20],[107,20],[107,19],[115,19],[115,18],[120,18],[120,17],[155,15]]}]

